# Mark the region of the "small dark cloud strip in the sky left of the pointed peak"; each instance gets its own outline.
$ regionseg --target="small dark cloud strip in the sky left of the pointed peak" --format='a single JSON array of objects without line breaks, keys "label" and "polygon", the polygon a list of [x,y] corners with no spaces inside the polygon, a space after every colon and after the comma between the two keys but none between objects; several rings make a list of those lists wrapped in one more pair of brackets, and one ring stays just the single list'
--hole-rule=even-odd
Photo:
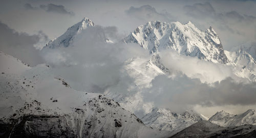
[{"label": "small dark cloud strip in the sky left of the pointed peak", "polygon": [[72,15],[72,16],[74,15],[73,12],[68,12],[63,5],[55,5],[55,4],[40,5],[40,8],[47,11],[47,12],[69,14],[69,15]]}]

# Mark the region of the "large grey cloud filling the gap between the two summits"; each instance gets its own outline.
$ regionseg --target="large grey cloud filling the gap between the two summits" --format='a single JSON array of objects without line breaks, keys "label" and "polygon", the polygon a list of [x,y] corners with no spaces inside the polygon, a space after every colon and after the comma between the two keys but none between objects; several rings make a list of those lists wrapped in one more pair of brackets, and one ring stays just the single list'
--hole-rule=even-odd
[{"label": "large grey cloud filling the gap between the two summits", "polygon": [[114,44],[105,42],[105,38],[113,41],[114,37],[120,37],[116,27],[95,26],[81,32],[69,47],[44,48],[42,55],[55,73],[76,90],[121,94],[127,92],[132,82],[132,78],[121,71],[124,62],[148,53],[137,44],[125,45],[121,39]]}]

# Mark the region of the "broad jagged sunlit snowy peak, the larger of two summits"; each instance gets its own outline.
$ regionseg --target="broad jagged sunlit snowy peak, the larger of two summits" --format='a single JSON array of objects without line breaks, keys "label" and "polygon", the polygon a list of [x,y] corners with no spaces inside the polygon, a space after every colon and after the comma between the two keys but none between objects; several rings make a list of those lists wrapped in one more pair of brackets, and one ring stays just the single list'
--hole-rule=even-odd
[{"label": "broad jagged sunlit snowy peak, the larger of two summits", "polygon": [[209,27],[202,31],[191,22],[181,24],[150,21],[137,27],[124,38],[124,42],[138,43],[152,53],[170,48],[181,55],[198,57],[214,63],[226,64],[228,61],[214,29]]}]

